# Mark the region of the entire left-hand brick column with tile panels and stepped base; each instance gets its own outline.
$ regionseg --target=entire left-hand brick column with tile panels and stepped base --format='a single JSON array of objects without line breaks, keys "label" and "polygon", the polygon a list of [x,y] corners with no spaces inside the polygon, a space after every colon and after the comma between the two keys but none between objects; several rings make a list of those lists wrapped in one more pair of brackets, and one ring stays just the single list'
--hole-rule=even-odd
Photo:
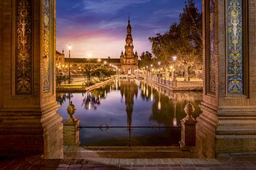
[{"label": "entire left-hand brick column with tile panels and stepped base", "polygon": [[55,0],[2,0],[0,9],[0,157],[61,158]]}]

